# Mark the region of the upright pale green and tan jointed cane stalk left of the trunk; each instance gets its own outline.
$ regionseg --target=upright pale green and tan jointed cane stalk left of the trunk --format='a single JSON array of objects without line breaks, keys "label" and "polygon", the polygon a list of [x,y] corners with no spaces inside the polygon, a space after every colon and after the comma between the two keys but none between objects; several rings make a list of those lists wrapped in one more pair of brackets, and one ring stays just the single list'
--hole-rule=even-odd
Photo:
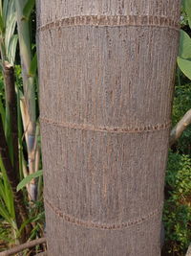
[{"label": "upright pale green and tan jointed cane stalk left of the trunk", "polygon": [[[26,0],[15,1],[17,13],[17,28],[19,35],[19,47],[22,66],[22,78],[24,87],[25,111],[22,111],[22,120],[25,129],[25,138],[27,142],[29,174],[35,172],[35,129],[36,129],[36,109],[35,109],[35,89],[34,78],[30,75],[30,66],[32,62],[32,50],[30,41],[29,21],[23,18],[23,7]],[[33,181],[28,185],[29,198],[35,200],[36,184]]]}]

